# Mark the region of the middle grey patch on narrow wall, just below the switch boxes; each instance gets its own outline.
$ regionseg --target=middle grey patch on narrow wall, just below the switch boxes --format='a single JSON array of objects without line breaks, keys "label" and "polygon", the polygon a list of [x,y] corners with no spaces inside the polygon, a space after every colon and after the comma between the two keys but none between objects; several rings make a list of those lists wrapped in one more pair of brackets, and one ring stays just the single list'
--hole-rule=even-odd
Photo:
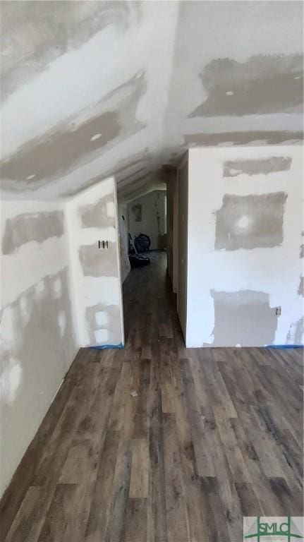
[{"label": "middle grey patch on narrow wall, just below the switch boxes", "polygon": [[108,241],[108,248],[99,249],[98,243],[82,245],[78,251],[83,275],[88,277],[118,277],[116,243]]}]

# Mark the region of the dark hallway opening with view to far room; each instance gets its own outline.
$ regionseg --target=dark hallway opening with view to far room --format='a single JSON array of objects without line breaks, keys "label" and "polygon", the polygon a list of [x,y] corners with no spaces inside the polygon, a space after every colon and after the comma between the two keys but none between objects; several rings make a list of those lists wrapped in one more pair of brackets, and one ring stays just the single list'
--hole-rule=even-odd
[{"label": "dark hallway opening with view to far room", "polygon": [[118,186],[118,221],[125,345],[149,347],[169,326],[166,183],[128,198]]}]

